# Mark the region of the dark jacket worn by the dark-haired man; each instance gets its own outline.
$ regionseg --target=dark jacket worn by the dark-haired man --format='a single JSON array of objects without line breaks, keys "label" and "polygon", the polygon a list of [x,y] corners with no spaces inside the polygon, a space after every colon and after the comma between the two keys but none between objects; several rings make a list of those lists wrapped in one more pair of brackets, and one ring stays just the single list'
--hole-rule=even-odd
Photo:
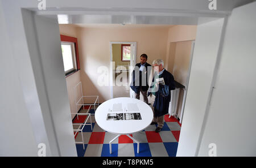
[{"label": "dark jacket worn by the dark-haired man", "polygon": [[[137,71],[133,70],[133,73],[132,73],[133,76],[132,76],[130,87],[135,93],[139,93],[139,87],[142,87],[142,91],[147,91],[149,88],[148,77],[151,73],[151,65],[146,62],[145,67],[143,68],[143,71],[139,71],[140,67],[141,67],[141,63],[137,63],[135,65],[135,68],[137,68]],[[143,76],[142,76],[142,73],[143,73]],[[146,85],[142,83],[142,77],[146,77]]]}]

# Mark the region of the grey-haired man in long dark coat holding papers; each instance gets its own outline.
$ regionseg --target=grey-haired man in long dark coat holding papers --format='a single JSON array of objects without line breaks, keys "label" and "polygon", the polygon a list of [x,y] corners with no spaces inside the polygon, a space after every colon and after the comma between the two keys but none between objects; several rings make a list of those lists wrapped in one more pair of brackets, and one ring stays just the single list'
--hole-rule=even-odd
[{"label": "grey-haired man in long dark coat holding papers", "polygon": [[155,132],[160,132],[164,125],[164,115],[168,113],[171,90],[175,89],[175,83],[174,76],[164,69],[162,59],[155,59],[152,64],[154,67],[154,77],[148,90],[151,108],[154,113],[151,125],[158,124]]}]

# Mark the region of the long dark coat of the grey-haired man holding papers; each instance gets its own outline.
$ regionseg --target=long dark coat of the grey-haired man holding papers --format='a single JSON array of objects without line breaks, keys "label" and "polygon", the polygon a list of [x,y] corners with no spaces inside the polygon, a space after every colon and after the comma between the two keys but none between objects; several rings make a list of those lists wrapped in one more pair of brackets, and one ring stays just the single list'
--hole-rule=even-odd
[{"label": "long dark coat of the grey-haired man holding papers", "polygon": [[[155,111],[155,117],[160,117],[162,115],[168,114],[169,110],[169,104],[171,101],[171,90],[175,89],[175,81],[174,81],[174,76],[164,70],[163,74],[159,75],[159,78],[163,77],[164,78],[164,84],[165,85],[160,85],[159,84],[159,89],[157,92],[155,92],[155,102],[154,102],[154,111]],[[154,77],[152,80],[152,85],[154,85]],[[150,87],[150,88],[151,88]],[[150,94],[150,90],[148,91],[148,96]]]}]

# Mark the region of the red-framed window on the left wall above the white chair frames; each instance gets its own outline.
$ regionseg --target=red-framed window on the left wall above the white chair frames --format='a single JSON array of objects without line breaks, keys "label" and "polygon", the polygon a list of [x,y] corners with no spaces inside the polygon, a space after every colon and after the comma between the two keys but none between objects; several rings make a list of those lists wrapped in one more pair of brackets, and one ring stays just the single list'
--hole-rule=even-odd
[{"label": "red-framed window on the left wall above the white chair frames", "polygon": [[66,77],[80,70],[77,38],[60,35]]}]

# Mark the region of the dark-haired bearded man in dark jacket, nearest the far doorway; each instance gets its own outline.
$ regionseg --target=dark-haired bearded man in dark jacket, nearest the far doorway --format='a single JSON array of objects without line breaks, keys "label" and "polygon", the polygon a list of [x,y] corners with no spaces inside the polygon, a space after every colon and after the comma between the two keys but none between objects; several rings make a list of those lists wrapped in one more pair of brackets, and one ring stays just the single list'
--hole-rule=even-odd
[{"label": "dark-haired bearded man in dark jacket, nearest the far doorway", "polygon": [[148,86],[148,77],[151,73],[151,65],[147,63],[147,55],[141,55],[141,63],[137,63],[133,70],[133,78],[130,84],[131,89],[133,90],[133,98],[139,99],[140,93],[142,93],[143,101],[148,104],[147,99],[147,90]]}]

